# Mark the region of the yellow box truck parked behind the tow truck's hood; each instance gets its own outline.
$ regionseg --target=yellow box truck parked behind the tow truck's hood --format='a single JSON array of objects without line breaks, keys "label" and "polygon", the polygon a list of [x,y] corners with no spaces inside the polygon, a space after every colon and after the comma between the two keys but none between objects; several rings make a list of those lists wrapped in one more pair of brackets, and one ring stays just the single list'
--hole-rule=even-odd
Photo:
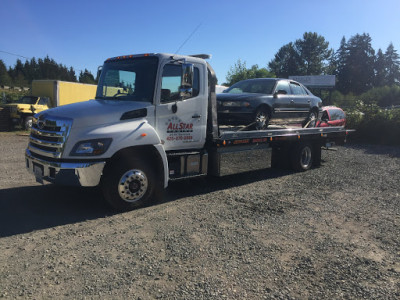
[{"label": "yellow box truck parked behind the tow truck's hood", "polygon": [[24,96],[7,104],[13,124],[25,129],[32,127],[33,115],[61,105],[93,99],[97,86],[59,80],[34,80],[32,96]]}]

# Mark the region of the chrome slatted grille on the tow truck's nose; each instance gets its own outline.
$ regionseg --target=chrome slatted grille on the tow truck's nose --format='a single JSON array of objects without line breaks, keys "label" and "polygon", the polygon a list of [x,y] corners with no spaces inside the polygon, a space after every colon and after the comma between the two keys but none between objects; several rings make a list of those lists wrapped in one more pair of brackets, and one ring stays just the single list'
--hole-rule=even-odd
[{"label": "chrome slatted grille on the tow truck's nose", "polygon": [[72,120],[41,115],[32,122],[29,150],[51,158],[61,158],[71,130]]}]

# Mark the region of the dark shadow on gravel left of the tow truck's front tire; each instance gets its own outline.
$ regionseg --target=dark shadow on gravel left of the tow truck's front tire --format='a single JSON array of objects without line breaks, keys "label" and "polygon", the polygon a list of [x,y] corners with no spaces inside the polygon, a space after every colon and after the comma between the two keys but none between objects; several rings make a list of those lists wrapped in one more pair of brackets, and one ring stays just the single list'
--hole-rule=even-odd
[{"label": "dark shadow on gravel left of the tow truck's front tire", "polygon": [[94,189],[44,185],[0,190],[0,237],[111,214]]}]

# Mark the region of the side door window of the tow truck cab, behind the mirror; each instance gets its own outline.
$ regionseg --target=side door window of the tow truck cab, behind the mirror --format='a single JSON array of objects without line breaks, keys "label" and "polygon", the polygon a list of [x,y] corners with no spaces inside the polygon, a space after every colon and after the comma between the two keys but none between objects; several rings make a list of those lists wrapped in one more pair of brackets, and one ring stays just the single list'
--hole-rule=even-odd
[{"label": "side door window of the tow truck cab, behind the mirror", "polygon": [[[180,65],[165,65],[161,84],[161,103],[181,100],[179,90],[182,82],[182,67]],[[192,97],[199,95],[199,69],[194,68],[193,74],[193,94]]]}]

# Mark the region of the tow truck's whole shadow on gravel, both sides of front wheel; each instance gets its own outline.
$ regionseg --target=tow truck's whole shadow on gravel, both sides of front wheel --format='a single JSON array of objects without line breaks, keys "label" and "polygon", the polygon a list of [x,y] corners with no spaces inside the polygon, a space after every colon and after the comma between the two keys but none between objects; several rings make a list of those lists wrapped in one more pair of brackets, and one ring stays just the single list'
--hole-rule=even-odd
[{"label": "tow truck's whole shadow on gravel, both sides of front wheel", "polygon": [[[162,203],[291,173],[285,170],[267,169],[221,178],[172,182]],[[103,218],[114,213],[99,192],[93,188],[49,184],[3,189],[0,190],[0,237]]]}]

